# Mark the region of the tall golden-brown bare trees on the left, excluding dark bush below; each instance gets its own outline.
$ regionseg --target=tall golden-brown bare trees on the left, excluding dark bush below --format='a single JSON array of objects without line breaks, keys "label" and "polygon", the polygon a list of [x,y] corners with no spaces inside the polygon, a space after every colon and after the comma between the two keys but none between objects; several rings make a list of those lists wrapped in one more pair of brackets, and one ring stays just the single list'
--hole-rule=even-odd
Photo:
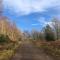
[{"label": "tall golden-brown bare trees on the left, excluding dark bush below", "polygon": [[2,17],[0,19],[0,34],[8,35],[11,41],[18,41],[22,33],[16,27],[15,23],[10,22],[6,17]]}]

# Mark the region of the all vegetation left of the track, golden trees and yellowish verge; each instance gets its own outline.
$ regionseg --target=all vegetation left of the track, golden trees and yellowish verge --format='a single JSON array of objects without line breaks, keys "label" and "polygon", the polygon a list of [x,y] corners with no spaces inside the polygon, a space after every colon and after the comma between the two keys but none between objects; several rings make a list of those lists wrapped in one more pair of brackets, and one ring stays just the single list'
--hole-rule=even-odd
[{"label": "all vegetation left of the track, golden trees and yellowish verge", "polygon": [[21,31],[7,17],[0,17],[0,60],[9,60],[21,42]]}]

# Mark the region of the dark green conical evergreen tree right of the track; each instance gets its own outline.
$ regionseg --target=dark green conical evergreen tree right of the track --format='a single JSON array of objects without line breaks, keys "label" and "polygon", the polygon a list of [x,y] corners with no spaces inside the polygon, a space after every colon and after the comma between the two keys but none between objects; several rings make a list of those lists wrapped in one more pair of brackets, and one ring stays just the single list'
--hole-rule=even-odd
[{"label": "dark green conical evergreen tree right of the track", "polygon": [[54,32],[53,32],[52,28],[49,25],[46,25],[44,30],[45,30],[44,33],[45,33],[46,41],[54,41],[55,36],[54,36]]}]

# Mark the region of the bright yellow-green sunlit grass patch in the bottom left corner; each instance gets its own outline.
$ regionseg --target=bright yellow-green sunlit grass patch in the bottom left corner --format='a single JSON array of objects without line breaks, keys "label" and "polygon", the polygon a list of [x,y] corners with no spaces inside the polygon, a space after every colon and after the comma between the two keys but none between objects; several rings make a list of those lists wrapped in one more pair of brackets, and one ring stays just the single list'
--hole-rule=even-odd
[{"label": "bright yellow-green sunlit grass patch in the bottom left corner", "polygon": [[0,60],[9,60],[9,58],[14,54],[14,50],[4,50],[0,51]]}]

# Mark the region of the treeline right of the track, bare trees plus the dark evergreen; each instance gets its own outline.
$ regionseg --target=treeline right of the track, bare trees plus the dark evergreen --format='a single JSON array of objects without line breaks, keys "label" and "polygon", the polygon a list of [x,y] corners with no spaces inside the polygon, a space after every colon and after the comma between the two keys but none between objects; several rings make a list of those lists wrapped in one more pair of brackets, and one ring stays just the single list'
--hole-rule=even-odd
[{"label": "treeline right of the track, bare trees plus the dark evergreen", "polygon": [[24,31],[25,39],[55,41],[60,40],[60,20],[54,18],[51,24],[47,24],[41,31],[32,30],[31,32]]}]

